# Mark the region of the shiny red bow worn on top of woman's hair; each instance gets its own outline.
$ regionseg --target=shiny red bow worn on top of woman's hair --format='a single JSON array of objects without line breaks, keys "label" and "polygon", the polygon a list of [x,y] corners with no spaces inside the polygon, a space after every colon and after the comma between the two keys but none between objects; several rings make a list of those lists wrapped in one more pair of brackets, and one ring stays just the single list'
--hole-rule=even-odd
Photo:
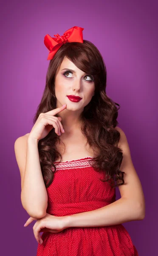
[{"label": "shiny red bow worn on top of woman's hair", "polygon": [[78,26],[74,26],[71,29],[65,31],[65,33],[60,36],[59,34],[54,35],[55,38],[51,38],[50,35],[45,35],[44,44],[50,51],[48,54],[47,60],[51,60],[59,48],[65,44],[66,42],[79,42],[83,43],[83,35],[82,35],[83,28]]}]

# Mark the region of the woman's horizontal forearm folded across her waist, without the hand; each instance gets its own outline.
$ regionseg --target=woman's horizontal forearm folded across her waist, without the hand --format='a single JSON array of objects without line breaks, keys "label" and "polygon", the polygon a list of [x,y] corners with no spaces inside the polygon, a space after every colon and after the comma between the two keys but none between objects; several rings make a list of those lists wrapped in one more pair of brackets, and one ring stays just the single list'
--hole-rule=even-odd
[{"label": "woman's horizontal forearm folded across her waist, without the hand", "polygon": [[65,216],[65,224],[67,227],[102,227],[143,218],[144,212],[140,204],[120,198],[99,209]]}]

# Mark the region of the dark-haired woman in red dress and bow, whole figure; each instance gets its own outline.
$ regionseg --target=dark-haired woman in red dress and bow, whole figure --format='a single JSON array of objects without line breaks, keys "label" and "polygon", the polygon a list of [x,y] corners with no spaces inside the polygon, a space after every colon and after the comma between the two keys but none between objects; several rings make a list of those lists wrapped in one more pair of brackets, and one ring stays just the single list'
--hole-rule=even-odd
[{"label": "dark-haired woman in red dress and bow, whole figure", "polygon": [[36,220],[37,256],[137,256],[122,223],[144,219],[144,194],[104,60],[82,30],[45,36],[45,90],[31,132],[15,142],[25,226]]}]

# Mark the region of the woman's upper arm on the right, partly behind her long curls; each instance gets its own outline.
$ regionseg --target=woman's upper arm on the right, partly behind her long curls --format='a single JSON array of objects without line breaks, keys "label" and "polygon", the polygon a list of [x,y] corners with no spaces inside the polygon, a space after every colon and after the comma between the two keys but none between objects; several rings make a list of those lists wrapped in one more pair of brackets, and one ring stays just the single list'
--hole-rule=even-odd
[{"label": "woman's upper arm on the right, partly behind her long curls", "polygon": [[122,149],[123,159],[120,166],[120,170],[124,173],[124,184],[118,186],[121,197],[134,200],[138,205],[140,205],[143,215],[145,215],[145,199],[144,193],[141,186],[141,181],[138,174],[133,166],[130,147],[127,142],[127,137],[124,131],[116,127],[120,133],[120,140],[118,143],[118,148]]}]

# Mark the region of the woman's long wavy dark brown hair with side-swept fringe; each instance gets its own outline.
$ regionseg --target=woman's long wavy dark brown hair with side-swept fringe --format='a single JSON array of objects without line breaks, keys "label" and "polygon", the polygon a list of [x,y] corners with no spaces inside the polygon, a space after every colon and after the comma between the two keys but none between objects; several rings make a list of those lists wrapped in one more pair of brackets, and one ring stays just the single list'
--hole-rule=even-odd
[{"label": "woman's long wavy dark brown hair with side-swept fringe", "polygon": [[[118,148],[120,133],[115,129],[118,125],[116,119],[120,105],[113,102],[106,94],[106,67],[101,53],[93,43],[87,40],[83,40],[83,43],[67,42],[59,48],[54,58],[50,60],[45,89],[37,113],[34,116],[33,124],[37,121],[40,113],[56,108],[55,75],[65,56],[80,70],[94,77],[95,94],[81,114],[81,131],[87,138],[90,147],[96,148],[96,151],[99,152],[99,154],[96,154],[94,151],[95,157],[92,166],[97,172],[104,171],[107,180],[103,179],[102,181],[108,182],[108,180],[111,180],[110,185],[113,188],[120,186],[124,184],[124,172],[120,170],[123,154],[121,148]],[[118,105],[118,108],[116,105]],[[58,114],[55,116],[58,116]],[[61,154],[56,150],[57,140],[60,141],[60,137],[53,128],[38,143],[40,166],[46,188],[51,185],[54,178],[55,160],[59,157],[60,161],[62,159]]]}]

